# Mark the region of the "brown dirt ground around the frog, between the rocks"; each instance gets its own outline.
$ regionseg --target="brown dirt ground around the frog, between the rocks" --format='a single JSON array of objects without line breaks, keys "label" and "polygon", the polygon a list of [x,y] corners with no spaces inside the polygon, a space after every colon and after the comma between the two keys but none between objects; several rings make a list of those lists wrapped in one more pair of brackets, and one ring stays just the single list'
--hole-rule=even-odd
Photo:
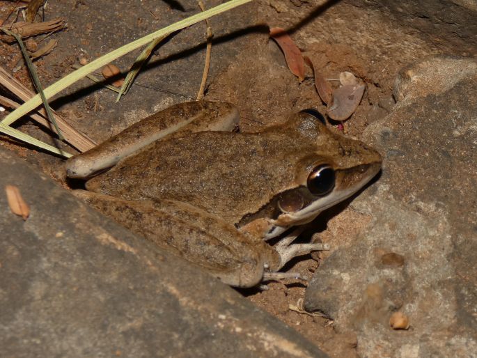
[{"label": "brown dirt ground around the frog, between the rocks", "polygon": [[[125,13],[124,4],[121,8],[122,1],[116,1],[116,3],[117,5],[111,8],[88,1],[48,1],[45,9],[47,19],[65,16],[68,30],[54,34],[60,45],[52,54],[36,61],[43,83],[50,84],[63,77],[71,71],[71,65],[77,63],[81,56],[94,59],[99,54],[104,54],[106,49],[113,49],[133,37],[152,32],[157,28],[155,16],[160,18],[159,24],[168,24],[171,20],[167,14],[178,13],[178,10],[174,8],[177,5],[175,1],[168,1],[169,5],[161,5],[166,9],[164,13],[157,12],[153,1],[132,1],[134,5],[129,6],[132,15]],[[14,4],[12,1],[0,1],[0,19],[6,18]],[[342,130],[345,134],[357,138],[369,123],[389,113],[394,104],[393,79],[398,70],[414,59],[442,52],[439,46],[420,38],[417,31],[397,26],[373,8],[353,6],[340,1],[330,3],[302,0],[263,0],[253,3],[253,8],[251,5],[247,6],[244,7],[244,14],[240,20],[246,22],[247,26],[258,26],[259,30],[241,35],[233,47],[227,47],[230,45],[218,41],[220,43],[217,44],[217,52],[227,52],[228,55],[224,56],[232,56],[234,61],[220,63],[223,59],[222,55],[214,57],[216,55],[212,54],[210,85],[205,96],[205,99],[227,100],[237,104],[242,113],[240,123],[242,131],[259,130],[264,125],[276,123],[283,116],[300,109],[308,107],[316,107],[320,111],[325,109],[315,91],[311,71],[308,69],[305,81],[300,84],[286,68],[279,48],[274,42],[269,41],[263,29],[260,30],[260,26],[265,24],[288,29],[302,52],[314,59],[315,65],[320,67],[324,77],[337,79],[339,73],[346,70],[365,81],[367,88],[363,100],[352,118],[344,123]],[[68,9],[71,10],[70,13]],[[187,2],[186,10],[187,15],[196,11],[191,1]],[[41,10],[40,13],[42,13]],[[186,13],[179,13],[175,18],[185,17]],[[78,19],[73,19],[72,15]],[[13,16],[10,16],[10,21]],[[68,18],[69,16],[71,18]],[[81,25],[81,21],[86,23]],[[98,29],[100,25],[104,26],[104,31]],[[240,29],[242,25],[239,21],[233,26]],[[134,36],[127,33],[127,29],[132,28],[139,29]],[[223,36],[232,32],[232,29],[228,30],[230,31],[219,30],[216,38],[224,38]],[[195,26],[190,31],[197,35],[196,38],[194,38],[195,35],[191,36],[191,42],[187,42],[189,35],[183,33],[173,38],[171,42],[175,40],[180,42],[182,46],[180,51],[183,56],[198,56],[198,59],[202,59],[204,49],[198,44],[203,44],[203,27],[198,29],[198,26]],[[102,33],[105,34],[102,35]],[[188,47],[194,47],[194,52],[187,53]],[[172,54],[178,53],[178,49],[172,47],[170,50],[166,49],[167,51]],[[180,51],[179,54],[181,54]],[[136,53],[125,56],[117,63],[121,69],[125,70],[127,63],[131,63],[135,56]],[[186,61],[187,64],[195,61],[181,59],[179,55],[176,57],[179,63]],[[155,65],[149,69],[155,70],[158,64],[173,66],[171,63],[174,60],[172,55],[155,55],[150,61]],[[161,86],[168,88],[172,94],[147,88],[158,85],[153,82],[153,79],[143,75],[139,77],[138,83],[145,86],[145,92],[136,98],[125,98],[123,104],[120,104],[123,107],[119,109],[110,109],[114,105],[115,95],[97,86],[84,83],[73,86],[59,99],[56,97],[56,102],[54,101],[53,104],[67,118],[72,118],[72,123],[77,125],[79,130],[101,141],[134,122],[135,120],[130,119],[132,117],[146,116],[154,109],[194,98],[198,88],[196,84],[202,75],[202,60],[198,62],[200,65],[194,72],[194,76],[191,76],[193,78],[178,80],[174,77],[178,70],[159,73],[163,81]],[[0,42],[0,63],[4,68],[15,72],[15,77],[19,81],[31,87],[28,72],[16,45]],[[171,83],[170,86],[168,81]],[[191,83],[194,83],[194,86],[189,86]],[[134,87],[135,90],[137,88],[137,86]],[[75,91],[83,92],[81,96],[75,97]],[[146,106],[135,108],[138,101],[141,101],[141,96],[153,98],[153,100],[150,100]],[[111,120],[115,117],[114,111],[123,113],[118,116],[121,119],[120,122]],[[94,118],[94,120],[87,121],[86,118]],[[102,122],[101,118],[108,118],[108,120]],[[338,129],[337,124],[332,122],[329,125],[339,132],[341,130]],[[39,139],[49,141],[45,132],[26,120],[22,122],[20,129]],[[0,145],[12,148],[61,185],[68,187],[61,159],[17,145],[15,141],[4,137]],[[347,208],[344,203],[339,208],[323,213],[315,224],[322,231],[322,241],[331,244],[333,248],[352,244],[357,232],[366,229],[368,221],[368,217],[359,215]],[[327,222],[327,225],[324,226],[323,222]],[[329,254],[322,253],[321,258],[326,259],[327,255]],[[319,270],[319,265],[317,261],[308,258],[295,260],[286,269],[311,277],[315,270]],[[297,329],[331,357],[356,356],[354,350],[357,346],[356,336],[335,332],[333,322],[326,318],[290,309],[290,306],[299,306],[300,299],[304,297],[306,289],[304,283],[272,282],[269,283],[268,288],[264,291],[242,290],[241,292],[257,306]]]}]

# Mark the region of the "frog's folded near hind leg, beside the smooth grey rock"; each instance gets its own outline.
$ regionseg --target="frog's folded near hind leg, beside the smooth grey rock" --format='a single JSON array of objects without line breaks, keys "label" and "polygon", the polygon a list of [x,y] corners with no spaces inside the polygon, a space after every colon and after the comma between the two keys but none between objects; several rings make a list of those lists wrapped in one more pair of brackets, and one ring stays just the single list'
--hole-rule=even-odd
[{"label": "frog's folded near hind leg, beside the smooth grey rock", "polygon": [[127,201],[84,191],[78,191],[77,196],[224,283],[251,287],[263,278],[264,259],[253,242],[203,210],[170,200]]}]

